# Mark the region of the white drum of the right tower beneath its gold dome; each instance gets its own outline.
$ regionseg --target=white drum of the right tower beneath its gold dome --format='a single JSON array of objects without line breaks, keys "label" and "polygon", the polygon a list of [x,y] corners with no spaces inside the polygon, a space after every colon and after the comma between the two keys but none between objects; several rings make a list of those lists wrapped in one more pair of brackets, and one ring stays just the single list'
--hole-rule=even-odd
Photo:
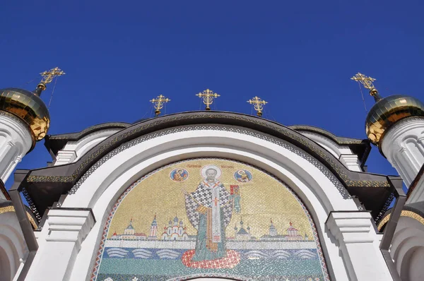
[{"label": "white drum of the right tower beneath its gold dome", "polygon": [[408,117],[398,121],[383,136],[382,152],[404,179],[406,186],[411,185],[424,164],[423,140],[424,118],[420,117]]}]

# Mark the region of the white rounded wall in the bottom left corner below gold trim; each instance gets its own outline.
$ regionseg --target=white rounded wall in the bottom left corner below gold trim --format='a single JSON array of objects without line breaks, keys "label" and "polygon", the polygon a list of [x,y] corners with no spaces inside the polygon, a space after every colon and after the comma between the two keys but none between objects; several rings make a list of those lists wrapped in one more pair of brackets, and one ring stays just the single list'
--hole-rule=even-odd
[{"label": "white rounded wall in the bottom left corner below gold trim", "polygon": [[28,248],[15,212],[0,213],[0,280],[11,281],[27,256]]}]

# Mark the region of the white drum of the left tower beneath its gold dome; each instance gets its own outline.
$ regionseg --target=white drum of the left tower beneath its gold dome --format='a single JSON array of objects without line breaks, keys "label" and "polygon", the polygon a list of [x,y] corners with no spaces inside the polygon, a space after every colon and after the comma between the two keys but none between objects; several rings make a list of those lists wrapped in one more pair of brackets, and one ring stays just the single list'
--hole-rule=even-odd
[{"label": "white drum of the left tower beneath its gold dome", "polygon": [[13,114],[0,111],[0,179],[3,182],[7,181],[32,144],[28,125]]}]

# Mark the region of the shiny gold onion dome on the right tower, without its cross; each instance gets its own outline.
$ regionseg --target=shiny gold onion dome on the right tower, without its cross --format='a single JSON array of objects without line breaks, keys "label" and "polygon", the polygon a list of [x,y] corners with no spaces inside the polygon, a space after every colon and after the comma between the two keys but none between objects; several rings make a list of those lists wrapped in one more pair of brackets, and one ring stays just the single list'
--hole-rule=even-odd
[{"label": "shiny gold onion dome on the right tower, without its cross", "polygon": [[415,97],[406,95],[384,97],[368,112],[365,121],[368,138],[378,146],[387,128],[408,116],[424,116],[424,104]]}]

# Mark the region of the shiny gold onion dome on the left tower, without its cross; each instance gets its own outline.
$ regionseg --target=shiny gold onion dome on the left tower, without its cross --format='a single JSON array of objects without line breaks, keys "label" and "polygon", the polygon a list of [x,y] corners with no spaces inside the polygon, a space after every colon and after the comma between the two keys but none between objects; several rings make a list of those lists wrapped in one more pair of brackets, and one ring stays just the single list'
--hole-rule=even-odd
[{"label": "shiny gold onion dome on the left tower, without its cross", "polygon": [[0,110],[23,119],[35,141],[42,140],[50,126],[50,114],[45,103],[33,92],[19,88],[0,90]]}]

